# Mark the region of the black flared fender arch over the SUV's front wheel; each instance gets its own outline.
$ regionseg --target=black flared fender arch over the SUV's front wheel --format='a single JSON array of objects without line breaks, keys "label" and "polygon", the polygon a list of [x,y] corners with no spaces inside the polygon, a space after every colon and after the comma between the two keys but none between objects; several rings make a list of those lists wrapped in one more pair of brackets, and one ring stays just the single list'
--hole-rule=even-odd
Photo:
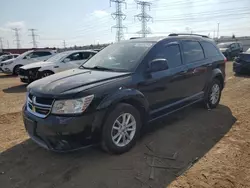
[{"label": "black flared fender arch over the SUV's front wheel", "polygon": [[105,97],[101,103],[98,105],[97,109],[102,110],[109,108],[122,101],[136,101],[142,107],[145,108],[145,112],[148,112],[149,104],[145,96],[136,89],[120,88],[117,92]]}]

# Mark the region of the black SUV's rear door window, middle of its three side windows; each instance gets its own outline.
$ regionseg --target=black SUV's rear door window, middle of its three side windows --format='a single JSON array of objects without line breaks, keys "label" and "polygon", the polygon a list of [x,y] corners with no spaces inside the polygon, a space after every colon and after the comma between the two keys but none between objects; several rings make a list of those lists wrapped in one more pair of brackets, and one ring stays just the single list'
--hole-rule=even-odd
[{"label": "black SUV's rear door window, middle of its three side windows", "polygon": [[184,41],[183,54],[186,64],[193,63],[205,58],[200,43],[196,41]]}]

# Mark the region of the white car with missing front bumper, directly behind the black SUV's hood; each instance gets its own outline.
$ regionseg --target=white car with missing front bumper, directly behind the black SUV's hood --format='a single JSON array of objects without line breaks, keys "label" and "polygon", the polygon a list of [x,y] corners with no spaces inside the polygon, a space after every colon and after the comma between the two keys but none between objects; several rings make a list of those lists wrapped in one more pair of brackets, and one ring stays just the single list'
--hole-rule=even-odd
[{"label": "white car with missing front bumper, directly behind the black SUV's hood", "polygon": [[47,61],[40,61],[20,67],[21,82],[31,83],[37,79],[77,68],[97,52],[93,50],[74,50],[56,54]]}]

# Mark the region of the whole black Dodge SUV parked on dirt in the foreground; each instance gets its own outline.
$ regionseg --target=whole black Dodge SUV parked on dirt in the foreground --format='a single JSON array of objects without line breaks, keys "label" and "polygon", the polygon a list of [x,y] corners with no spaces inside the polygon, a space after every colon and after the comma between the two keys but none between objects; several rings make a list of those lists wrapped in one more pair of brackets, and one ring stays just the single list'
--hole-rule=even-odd
[{"label": "whole black Dodge SUV parked on dirt in the foreground", "polygon": [[197,102],[215,108],[224,80],[225,57],[207,37],[123,41],[77,69],[30,84],[24,124],[49,150],[101,143],[106,151],[123,153],[148,122]]}]

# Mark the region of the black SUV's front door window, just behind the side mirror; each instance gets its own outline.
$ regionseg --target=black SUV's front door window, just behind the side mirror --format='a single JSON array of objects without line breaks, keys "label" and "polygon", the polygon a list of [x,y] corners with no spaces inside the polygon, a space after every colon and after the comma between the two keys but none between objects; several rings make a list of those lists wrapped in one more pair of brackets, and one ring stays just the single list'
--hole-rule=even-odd
[{"label": "black SUV's front door window, just behind the side mirror", "polygon": [[164,58],[168,61],[169,68],[175,68],[182,65],[181,52],[178,44],[166,46],[157,52],[155,59]]}]

